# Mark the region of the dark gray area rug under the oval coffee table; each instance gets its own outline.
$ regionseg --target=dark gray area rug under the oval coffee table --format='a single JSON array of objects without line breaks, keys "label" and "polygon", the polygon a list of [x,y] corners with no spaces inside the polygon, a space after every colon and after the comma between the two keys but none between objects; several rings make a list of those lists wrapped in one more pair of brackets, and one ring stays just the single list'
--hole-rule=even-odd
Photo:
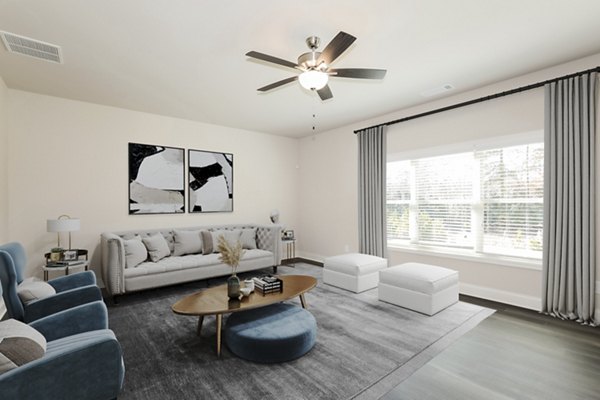
[{"label": "dark gray area rug under the oval coffee table", "polygon": [[[225,278],[134,293],[109,307],[110,328],[125,359],[125,385],[119,398],[378,398],[450,344],[442,343],[491,314],[459,302],[428,317],[378,301],[376,289],[354,294],[323,284],[320,267],[298,263],[278,272],[319,279],[305,295],[318,326],[317,343],[308,354],[264,365],[235,357],[224,344],[218,358],[215,319],[204,319],[200,338],[197,317],[176,315],[171,305],[202,288],[222,284]],[[299,305],[298,299],[290,302]]]}]

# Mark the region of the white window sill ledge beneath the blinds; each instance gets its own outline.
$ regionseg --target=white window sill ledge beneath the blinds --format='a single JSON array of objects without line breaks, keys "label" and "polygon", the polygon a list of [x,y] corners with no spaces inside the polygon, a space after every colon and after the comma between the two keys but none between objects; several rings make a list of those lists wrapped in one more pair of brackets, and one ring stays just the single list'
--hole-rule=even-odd
[{"label": "white window sill ledge beneath the blinds", "polygon": [[453,258],[471,262],[481,262],[486,264],[502,265],[513,268],[542,270],[542,260],[527,259],[520,257],[500,256],[493,254],[475,254],[460,250],[439,249],[427,246],[403,246],[399,244],[388,244],[389,251],[401,251],[404,253],[420,254],[433,257]]}]

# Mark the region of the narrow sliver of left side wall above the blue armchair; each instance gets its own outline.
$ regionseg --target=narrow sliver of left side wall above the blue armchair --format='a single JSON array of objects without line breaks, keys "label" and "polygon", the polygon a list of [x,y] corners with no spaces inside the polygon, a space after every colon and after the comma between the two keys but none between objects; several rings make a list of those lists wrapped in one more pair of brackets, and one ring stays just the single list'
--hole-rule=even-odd
[{"label": "narrow sliver of left side wall above the blue armchair", "polygon": [[8,89],[0,77],[0,243],[8,241]]}]

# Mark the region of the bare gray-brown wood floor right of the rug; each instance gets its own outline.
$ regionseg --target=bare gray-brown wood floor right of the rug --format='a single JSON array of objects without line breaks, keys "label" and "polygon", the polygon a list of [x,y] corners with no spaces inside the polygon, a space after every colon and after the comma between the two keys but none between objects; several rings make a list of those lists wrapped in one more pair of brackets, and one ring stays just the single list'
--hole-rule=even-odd
[{"label": "bare gray-brown wood floor right of the rug", "polygon": [[498,311],[383,399],[600,399],[600,327],[461,300]]}]

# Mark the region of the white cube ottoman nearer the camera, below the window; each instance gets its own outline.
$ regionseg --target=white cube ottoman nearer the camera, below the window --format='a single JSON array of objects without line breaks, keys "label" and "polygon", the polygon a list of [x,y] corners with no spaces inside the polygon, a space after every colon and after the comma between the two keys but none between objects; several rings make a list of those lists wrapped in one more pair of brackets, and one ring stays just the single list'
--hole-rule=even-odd
[{"label": "white cube ottoman nearer the camera, below the window", "polygon": [[406,263],[379,271],[379,300],[433,315],[458,301],[458,272]]}]

